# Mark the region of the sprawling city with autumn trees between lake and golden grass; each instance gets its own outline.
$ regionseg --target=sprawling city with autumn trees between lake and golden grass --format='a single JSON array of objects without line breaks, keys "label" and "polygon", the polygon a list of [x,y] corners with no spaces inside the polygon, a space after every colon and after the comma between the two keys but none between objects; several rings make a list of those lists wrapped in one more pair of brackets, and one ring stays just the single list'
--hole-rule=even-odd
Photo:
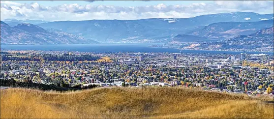
[{"label": "sprawling city with autumn trees between lake and golden grass", "polygon": [[63,87],[185,87],[273,95],[266,54],[1,51],[2,80]]}]

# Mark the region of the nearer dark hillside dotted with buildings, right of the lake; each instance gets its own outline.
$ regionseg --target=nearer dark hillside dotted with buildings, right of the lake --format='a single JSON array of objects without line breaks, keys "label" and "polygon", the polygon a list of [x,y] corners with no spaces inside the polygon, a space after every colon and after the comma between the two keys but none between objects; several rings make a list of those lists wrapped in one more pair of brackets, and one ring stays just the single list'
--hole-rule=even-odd
[{"label": "nearer dark hillside dotted with buildings, right of the lake", "polygon": [[[274,45],[274,27],[258,30],[248,35],[238,35],[232,38],[227,38],[215,42],[193,43],[193,49],[199,50],[223,50],[223,51],[245,51],[252,50],[255,52],[260,51],[273,51]],[[189,49],[192,44],[182,45],[183,49]]]}]

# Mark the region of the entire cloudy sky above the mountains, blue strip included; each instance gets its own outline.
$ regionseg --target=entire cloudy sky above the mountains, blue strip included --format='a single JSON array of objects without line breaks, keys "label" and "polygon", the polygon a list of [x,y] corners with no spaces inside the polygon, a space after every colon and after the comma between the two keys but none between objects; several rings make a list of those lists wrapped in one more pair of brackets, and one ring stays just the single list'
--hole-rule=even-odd
[{"label": "entire cloudy sky above the mountains, blue strip included", "polygon": [[1,0],[0,20],[79,21],[189,18],[224,12],[274,12],[272,0]]}]

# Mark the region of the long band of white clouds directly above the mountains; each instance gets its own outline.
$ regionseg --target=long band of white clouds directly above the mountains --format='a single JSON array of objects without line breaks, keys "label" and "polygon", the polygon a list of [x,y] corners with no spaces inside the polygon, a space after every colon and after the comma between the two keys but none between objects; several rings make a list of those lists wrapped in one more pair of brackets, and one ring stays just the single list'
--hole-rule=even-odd
[{"label": "long band of white clouds directly above the mountains", "polygon": [[[54,3],[54,2],[53,2]],[[87,2],[88,3],[88,2]],[[146,6],[109,6],[62,4],[43,6],[38,3],[21,4],[1,1],[1,20],[41,19],[49,21],[91,20],[91,19],[145,19],[145,18],[187,18],[202,14],[248,11],[273,13],[273,1],[214,1],[213,3],[193,3],[190,5],[165,5],[163,3]]]}]

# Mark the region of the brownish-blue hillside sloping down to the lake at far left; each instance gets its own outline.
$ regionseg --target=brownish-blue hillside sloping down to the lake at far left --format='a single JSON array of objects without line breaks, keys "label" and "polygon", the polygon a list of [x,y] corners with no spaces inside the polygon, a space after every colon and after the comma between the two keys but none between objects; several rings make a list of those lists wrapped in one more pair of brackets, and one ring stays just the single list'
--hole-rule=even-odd
[{"label": "brownish-blue hillside sloping down to the lake at far left", "polygon": [[96,43],[63,31],[48,31],[33,24],[10,27],[1,21],[1,45]]}]

